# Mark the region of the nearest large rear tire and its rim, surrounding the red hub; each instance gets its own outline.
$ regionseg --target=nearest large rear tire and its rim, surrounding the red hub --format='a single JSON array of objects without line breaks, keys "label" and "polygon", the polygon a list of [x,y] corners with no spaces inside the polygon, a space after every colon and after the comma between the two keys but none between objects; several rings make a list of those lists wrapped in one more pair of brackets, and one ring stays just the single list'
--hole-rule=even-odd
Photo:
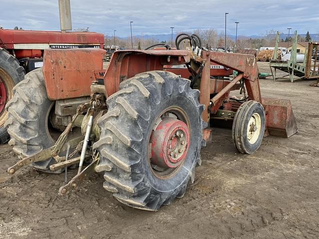
[{"label": "nearest large rear tire and its rim, surrounding the red hub", "polygon": [[[198,96],[199,91],[190,88],[189,80],[170,72],[152,71],[124,81],[120,91],[108,98],[109,110],[98,120],[101,136],[93,147],[100,153],[96,171],[104,172],[103,187],[118,201],[156,211],[184,195],[200,162],[202,128],[206,126],[201,120],[204,106],[198,103]],[[175,114],[177,121],[187,121],[190,143],[179,166],[158,171],[153,158],[150,160],[150,138],[163,112],[172,118]]]}]

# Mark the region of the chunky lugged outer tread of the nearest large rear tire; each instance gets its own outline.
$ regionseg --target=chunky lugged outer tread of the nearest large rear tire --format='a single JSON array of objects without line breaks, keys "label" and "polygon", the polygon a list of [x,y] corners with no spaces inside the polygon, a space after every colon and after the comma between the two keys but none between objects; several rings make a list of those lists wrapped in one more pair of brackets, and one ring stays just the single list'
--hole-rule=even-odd
[{"label": "chunky lugged outer tread of the nearest large rear tire", "polygon": [[[114,193],[119,202],[138,209],[157,211],[161,205],[182,197],[188,181],[193,182],[195,166],[174,191],[158,192],[145,180],[141,168],[143,130],[150,119],[152,107],[159,105],[162,98],[170,96],[173,91],[188,95],[200,117],[204,108],[198,102],[199,91],[192,90],[189,85],[189,80],[170,72],[151,71],[122,82],[120,91],[107,99],[110,111],[98,120],[101,137],[93,148],[100,152],[97,167],[111,168],[104,171],[104,188]],[[199,124],[200,127],[205,125],[202,121]],[[111,144],[106,142],[107,137],[112,137]],[[199,149],[201,144],[199,140]],[[195,155],[194,165],[199,160],[199,151]]]}]

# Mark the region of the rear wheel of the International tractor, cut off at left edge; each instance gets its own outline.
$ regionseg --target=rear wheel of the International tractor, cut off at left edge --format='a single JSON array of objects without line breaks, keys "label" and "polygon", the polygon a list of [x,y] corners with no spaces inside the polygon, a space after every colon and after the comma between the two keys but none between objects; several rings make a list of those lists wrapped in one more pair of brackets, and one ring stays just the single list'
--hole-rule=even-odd
[{"label": "rear wheel of the International tractor, cut off at left edge", "polygon": [[5,104],[12,98],[12,89],[24,79],[25,71],[15,57],[0,48],[0,144],[6,143],[9,135],[3,126],[7,119]]}]

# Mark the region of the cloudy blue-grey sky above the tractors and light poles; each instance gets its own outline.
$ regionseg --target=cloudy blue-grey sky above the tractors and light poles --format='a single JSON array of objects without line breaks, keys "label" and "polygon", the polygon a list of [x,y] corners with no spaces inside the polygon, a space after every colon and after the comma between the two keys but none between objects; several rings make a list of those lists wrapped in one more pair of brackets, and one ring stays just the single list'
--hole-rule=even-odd
[{"label": "cloudy blue-grey sky above the tractors and light poles", "polygon": [[[105,35],[169,34],[214,28],[235,35],[275,30],[319,33],[318,0],[71,0],[72,28]],[[27,30],[60,30],[58,0],[0,0],[0,25]]]}]

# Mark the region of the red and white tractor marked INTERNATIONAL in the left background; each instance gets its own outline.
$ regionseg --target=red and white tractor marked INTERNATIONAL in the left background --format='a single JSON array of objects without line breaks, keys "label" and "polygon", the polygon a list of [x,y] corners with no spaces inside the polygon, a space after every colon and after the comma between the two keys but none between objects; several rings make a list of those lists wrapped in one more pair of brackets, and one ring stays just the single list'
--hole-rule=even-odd
[{"label": "red and white tractor marked INTERNATIONAL in the left background", "polygon": [[43,66],[45,49],[103,49],[103,44],[104,35],[96,32],[0,29],[0,143],[8,140],[4,106],[12,98],[12,89],[25,73]]}]

